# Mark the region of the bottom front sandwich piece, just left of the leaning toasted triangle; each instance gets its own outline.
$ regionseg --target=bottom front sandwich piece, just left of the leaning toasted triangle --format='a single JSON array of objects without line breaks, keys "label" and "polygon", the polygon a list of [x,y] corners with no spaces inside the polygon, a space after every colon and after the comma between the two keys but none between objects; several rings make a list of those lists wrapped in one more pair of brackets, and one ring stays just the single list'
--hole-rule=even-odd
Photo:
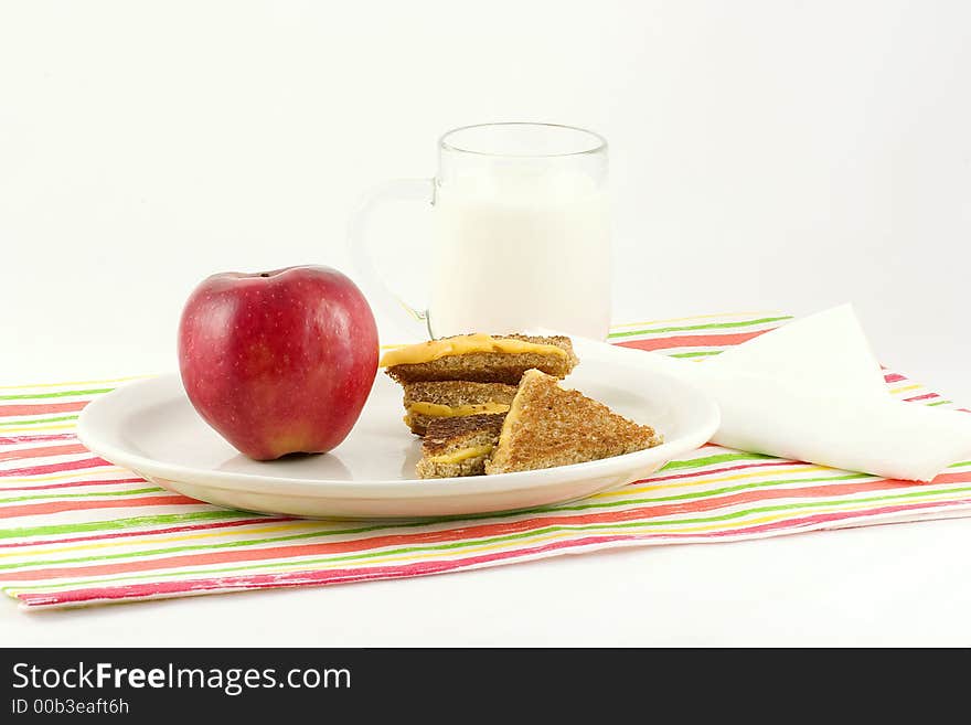
[{"label": "bottom front sandwich piece, just left of the leaning toasted triangle", "polygon": [[418,478],[484,473],[503,417],[481,414],[433,419],[422,441],[422,459],[415,467]]}]

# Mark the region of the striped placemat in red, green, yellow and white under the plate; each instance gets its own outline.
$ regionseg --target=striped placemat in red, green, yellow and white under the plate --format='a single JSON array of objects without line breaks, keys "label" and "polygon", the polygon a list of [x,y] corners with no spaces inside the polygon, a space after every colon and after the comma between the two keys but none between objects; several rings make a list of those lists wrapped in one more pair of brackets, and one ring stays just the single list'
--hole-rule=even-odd
[{"label": "striped placemat in red, green, yellow and white under the plate", "polygon": [[[697,359],[779,313],[618,327],[618,344]],[[887,372],[894,395],[950,401]],[[705,446],[580,502],[436,523],[321,522],[228,511],[88,452],[77,413],[122,381],[0,387],[0,586],[30,609],[420,576],[609,546],[736,541],[971,515],[971,461],[905,483]]]}]

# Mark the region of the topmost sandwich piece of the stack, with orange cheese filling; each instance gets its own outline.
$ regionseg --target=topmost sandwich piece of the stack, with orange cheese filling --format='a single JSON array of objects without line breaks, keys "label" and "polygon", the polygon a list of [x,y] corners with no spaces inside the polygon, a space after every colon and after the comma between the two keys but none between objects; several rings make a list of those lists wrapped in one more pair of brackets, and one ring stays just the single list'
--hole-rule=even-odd
[{"label": "topmost sandwich piece of the stack, with orange cheese filling", "polygon": [[569,338],[563,335],[476,333],[390,350],[380,364],[403,385],[442,381],[516,385],[527,370],[562,379],[577,362]]}]

